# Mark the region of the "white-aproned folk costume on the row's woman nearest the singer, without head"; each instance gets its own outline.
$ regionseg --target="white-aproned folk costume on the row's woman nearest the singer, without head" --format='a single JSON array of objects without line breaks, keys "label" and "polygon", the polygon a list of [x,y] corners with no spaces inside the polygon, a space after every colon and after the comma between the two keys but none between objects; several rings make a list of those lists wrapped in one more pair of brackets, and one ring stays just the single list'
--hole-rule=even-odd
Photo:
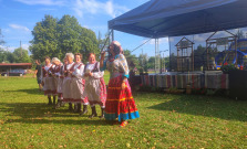
[{"label": "white-aproned folk costume on the row's woman nearest the singer, without head", "polygon": [[88,63],[84,68],[84,73],[91,72],[93,75],[85,78],[85,92],[84,94],[89,98],[90,106],[92,108],[91,118],[97,116],[95,105],[100,105],[102,109],[102,116],[104,117],[104,108],[106,100],[106,86],[104,83],[104,72],[100,71],[100,63]]}]

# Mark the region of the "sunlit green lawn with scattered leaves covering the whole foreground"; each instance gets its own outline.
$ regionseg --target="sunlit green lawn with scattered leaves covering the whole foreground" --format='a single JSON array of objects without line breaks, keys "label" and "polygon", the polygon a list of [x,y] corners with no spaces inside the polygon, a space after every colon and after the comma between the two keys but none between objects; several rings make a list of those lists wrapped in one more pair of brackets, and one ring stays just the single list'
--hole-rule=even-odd
[{"label": "sunlit green lawn with scattered leaves covering the whole foreground", "polygon": [[247,102],[134,93],[141,118],[120,128],[52,109],[30,76],[0,77],[0,148],[247,148]]}]

